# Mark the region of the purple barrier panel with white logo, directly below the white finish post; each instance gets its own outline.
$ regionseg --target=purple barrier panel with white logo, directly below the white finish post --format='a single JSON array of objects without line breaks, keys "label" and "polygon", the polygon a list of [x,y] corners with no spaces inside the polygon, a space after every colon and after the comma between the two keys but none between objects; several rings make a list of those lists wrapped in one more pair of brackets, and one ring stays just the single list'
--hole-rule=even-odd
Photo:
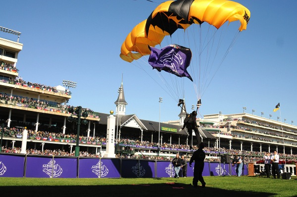
[{"label": "purple barrier panel with white logo, directly below the white finish post", "polygon": [[120,159],[79,158],[79,178],[120,178]]}]

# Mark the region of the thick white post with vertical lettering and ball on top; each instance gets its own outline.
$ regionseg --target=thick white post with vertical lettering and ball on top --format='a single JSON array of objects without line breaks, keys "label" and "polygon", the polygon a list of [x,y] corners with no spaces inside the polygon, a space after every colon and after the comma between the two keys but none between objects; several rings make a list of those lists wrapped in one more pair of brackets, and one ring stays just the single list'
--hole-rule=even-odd
[{"label": "thick white post with vertical lettering and ball on top", "polygon": [[115,130],[115,116],[111,113],[107,117],[107,135],[106,135],[106,152],[104,157],[115,158],[114,153],[114,130]]}]

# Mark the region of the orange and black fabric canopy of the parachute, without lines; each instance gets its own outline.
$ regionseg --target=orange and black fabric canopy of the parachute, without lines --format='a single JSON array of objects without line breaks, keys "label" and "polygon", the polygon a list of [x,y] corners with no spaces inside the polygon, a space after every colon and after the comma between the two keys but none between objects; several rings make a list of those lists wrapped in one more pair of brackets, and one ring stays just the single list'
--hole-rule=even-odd
[{"label": "orange and black fabric canopy of the parachute, without lines", "polygon": [[239,21],[239,31],[247,29],[249,10],[230,0],[169,0],[161,3],[147,20],[136,25],[122,44],[120,57],[128,62],[150,54],[154,47],[177,29],[207,22],[220,28],[226,21]]}]

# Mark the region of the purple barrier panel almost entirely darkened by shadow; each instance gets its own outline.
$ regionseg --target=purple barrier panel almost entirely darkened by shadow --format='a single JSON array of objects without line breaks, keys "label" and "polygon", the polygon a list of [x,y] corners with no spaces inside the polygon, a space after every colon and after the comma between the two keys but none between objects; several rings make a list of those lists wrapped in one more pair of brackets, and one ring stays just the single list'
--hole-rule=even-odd
[{"label": "purple barrier panel almost entirely darkened by shadow", "polygon": [[152,178],[155,177],[155,161],[122,159],[123,178]]}]

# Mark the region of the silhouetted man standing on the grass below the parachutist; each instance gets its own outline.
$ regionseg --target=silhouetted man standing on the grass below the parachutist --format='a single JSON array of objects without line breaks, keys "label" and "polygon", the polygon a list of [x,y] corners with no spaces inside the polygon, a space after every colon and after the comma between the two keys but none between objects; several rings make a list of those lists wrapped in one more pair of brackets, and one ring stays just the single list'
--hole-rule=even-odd
[{"label": "silhouetted man standing on the grass below the parachutist", "polygon": [[204,144],[200,143],[198,150],[196,150],[191,159],[190,159],[190,167],[192,167],[192,163],[195,161],[194,165],[194,178],[193,178],[193,185],[194,187],[198,187],[198,181],[201,182],[202,188],[205,188],[206,183],[202,177],[202,172],[204,168],[204,159],[205,159],[205,152],[203,151]]}]

